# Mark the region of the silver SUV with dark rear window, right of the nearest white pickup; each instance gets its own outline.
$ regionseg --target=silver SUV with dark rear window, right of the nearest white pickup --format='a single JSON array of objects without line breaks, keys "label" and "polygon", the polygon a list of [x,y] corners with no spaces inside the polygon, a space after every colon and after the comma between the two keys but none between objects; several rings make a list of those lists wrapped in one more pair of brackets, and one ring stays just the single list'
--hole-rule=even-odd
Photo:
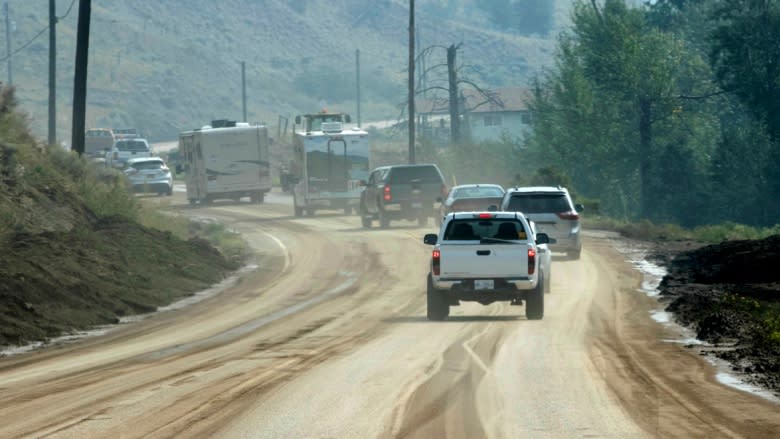
[{"label": "silver SUV with dark rear window, right of the nearest white pickup", "polygon": [[569,191],[561,186],[515,187],[507,189],[501,210],[522,212],[536,223],[538,232],[555,238],[550,250],[566,252],[569,259],[579,259],[581,204],[573,204]]}]

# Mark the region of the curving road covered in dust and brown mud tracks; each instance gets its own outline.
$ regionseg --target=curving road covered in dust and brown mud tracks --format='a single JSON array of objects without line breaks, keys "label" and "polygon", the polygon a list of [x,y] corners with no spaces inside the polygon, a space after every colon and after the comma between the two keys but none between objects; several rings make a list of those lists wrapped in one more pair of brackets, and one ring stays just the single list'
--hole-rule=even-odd
[{"label": "curving road covered in dust and brown mud tracks", "polygon": [[546,315],[425,319],[427,231],[292,217],[290,199],[173,208],[219,219],[257,268],[106,335],[0,359],[0,437],[776,437],[780,407],[724,387],[649,311],[609,239],[554,260]]}]

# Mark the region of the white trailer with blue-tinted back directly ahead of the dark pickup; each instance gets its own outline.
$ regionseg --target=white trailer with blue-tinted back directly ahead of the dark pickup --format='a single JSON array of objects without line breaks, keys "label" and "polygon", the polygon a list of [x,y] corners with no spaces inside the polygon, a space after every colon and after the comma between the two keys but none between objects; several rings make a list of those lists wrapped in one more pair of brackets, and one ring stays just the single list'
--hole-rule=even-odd
[{"label": "white trailer with blue-tinted back directly ahead of the dark pickup", "polygon": [[321,209],[357,211],[371,150],[368,133],[344,128],[349,122],[343,113],[296,117],[290,169],[295,216],[312,216]]}]

